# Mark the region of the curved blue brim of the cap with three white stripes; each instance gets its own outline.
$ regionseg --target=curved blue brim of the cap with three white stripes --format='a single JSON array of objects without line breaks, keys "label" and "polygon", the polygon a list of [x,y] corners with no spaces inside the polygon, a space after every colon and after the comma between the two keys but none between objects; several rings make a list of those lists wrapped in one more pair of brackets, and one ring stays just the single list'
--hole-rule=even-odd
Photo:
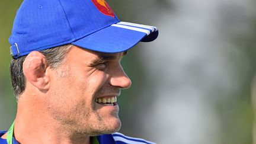
[{"label": "curved blue brim of the cap with three white stripes", "polygon": [[149,25],[120,22],[89,34],[72,44],[104,53],[124,52],[139,41],[149,42],[158,37],[158,29]]}]

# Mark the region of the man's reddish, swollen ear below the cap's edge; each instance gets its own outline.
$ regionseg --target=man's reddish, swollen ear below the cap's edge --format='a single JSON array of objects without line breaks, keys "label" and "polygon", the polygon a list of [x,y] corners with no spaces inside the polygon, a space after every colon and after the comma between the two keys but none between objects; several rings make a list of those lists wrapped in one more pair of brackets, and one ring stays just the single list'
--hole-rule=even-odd
[{"label": "man's reddish, swollen ear below the cap's edge", "polygon": [[27,55],[23,62],[23,73],[27,82],[34,85],[41,91],[50,87],[50,77],[47,74],[47,60],[40,52],[33,51]]}]

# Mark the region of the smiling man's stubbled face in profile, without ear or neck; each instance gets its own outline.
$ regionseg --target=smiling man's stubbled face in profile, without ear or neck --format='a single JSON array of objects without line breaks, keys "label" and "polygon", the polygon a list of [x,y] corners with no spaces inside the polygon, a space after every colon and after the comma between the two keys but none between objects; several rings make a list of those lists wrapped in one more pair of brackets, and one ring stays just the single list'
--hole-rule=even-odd
[{"label": "smiling man's stubbled face in profile, without ear or neck", "polygon": [[54,118],[76,133],[92,136],[117,132],[121,122],[114,101],[120,89],[131,85],[120,65],[123,55],[73,46],[62,65],[49,71],[51,86],[46,103]]}]

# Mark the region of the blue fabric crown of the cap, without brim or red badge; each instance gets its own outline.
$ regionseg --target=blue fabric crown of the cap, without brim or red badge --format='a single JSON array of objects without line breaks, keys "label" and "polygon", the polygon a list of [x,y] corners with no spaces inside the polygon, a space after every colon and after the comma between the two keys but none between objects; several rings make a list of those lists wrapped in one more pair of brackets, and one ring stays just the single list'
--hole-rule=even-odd
[{"label": "blue fabric crown of the cap, without brim or red badge", "polygon": [[91,0],[24,0],[9,37],[12,55],[79,40],[118,23],[117,16],[112,16],[101,12]]}]

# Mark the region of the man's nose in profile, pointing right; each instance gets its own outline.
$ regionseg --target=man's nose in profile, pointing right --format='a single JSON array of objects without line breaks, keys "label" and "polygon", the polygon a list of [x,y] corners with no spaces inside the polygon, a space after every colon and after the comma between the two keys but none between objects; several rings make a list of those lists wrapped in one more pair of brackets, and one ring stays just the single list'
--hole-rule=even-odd
[{"label": "man's nose in profile, pointing right", "polygon": [[113,72],[113,75],[110,78],[110,85],[120,87],[122,89],[127,89],[132,85],[132,81],[126,75],[121,65],[117,71]]}]

